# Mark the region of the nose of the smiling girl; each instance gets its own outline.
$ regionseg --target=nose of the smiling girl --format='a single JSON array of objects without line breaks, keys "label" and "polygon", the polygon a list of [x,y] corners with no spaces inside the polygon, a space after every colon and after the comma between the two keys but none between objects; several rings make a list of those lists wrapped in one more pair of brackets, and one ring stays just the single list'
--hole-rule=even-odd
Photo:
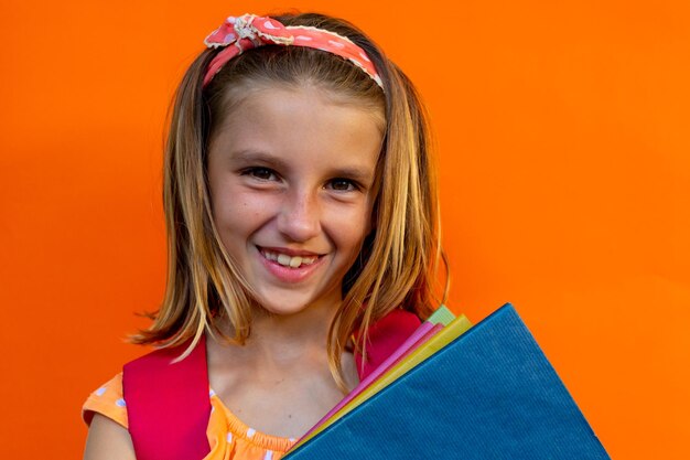
[{"label": "nose of the smiling girl", "polygon": [[313,193],[288,193],[278,216],[278,229],[292,242],[306,242],[321,232],[319,199]]}]

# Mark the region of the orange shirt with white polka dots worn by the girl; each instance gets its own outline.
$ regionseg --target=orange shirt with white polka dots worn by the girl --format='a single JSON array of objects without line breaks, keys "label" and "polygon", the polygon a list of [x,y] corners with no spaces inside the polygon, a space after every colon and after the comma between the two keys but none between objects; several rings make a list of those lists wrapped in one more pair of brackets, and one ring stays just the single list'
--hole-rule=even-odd
[{"label": "orange shirt with white polka dots worn by the girl", "polygon": [[[213,389],[209,392],[211,417],[206,436],[211,452],[204,460],[278,460],[294,439],[259,432],[228,410]],[[82,408],[89,424],[94,413],[101,414],[127,428],[127,403],[122,398],[122,373],[91,393]]]}]

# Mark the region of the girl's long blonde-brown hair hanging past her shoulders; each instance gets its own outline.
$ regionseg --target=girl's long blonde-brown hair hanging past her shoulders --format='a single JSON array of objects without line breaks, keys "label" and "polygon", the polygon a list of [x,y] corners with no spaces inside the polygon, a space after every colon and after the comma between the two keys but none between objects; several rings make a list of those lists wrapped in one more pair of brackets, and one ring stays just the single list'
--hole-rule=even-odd
[{"label": "girl's long blonde-brown hair hanging past her shoulders", "polygon": [[345,276],[343,301],[330,327],[332,374],[344,388],[341,355],[352,333],[366,330],[395,308],[427,318],[435,296],[441,259],[439,201],[428,116],[408,77],[352,24],[321,14],[274,17],[285,25],[310,25],[347,36],[374,62],[384,90],[349,62],[319,50],[263,46],[233,58],[202,88],[206,50],[186,72],[173,106],[165,148],[163,203],[168,228],[168,282],[153,324],[136,343],[174,346],[204,331],[217,331],[213,315],[226,314],[229,340],[242,344],[251,332],[251,289],[228,257],[215,229],[206,180],[208,139],[241,88],[255,84],[320,85],[356,104],[380,107],[386,127],[377,164],[374,229]]}]

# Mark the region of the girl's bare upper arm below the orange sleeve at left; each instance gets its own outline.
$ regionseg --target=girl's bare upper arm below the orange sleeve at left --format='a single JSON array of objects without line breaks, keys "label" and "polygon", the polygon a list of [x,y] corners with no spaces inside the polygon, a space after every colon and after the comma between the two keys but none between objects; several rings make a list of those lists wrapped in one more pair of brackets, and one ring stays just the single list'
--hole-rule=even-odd
[{"label": "girl's bare upper arm below the orange sleeve at left", "polygon": [[86,438],[84,460],[137,460],[129,431],[108,417],[95,414]]}]

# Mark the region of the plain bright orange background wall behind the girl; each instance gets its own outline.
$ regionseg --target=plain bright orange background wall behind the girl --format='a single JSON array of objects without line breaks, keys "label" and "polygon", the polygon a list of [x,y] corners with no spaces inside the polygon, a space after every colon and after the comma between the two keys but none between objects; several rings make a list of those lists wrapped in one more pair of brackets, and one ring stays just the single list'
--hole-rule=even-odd
[{"label": "plain bright orange background wall behind the girl", "polygon": [[[613,458],[690,458],[690,3],[388,3],[290,7],[423,94],[452,309],[511,301]],[[162,296],[175,84],[227,14],[281,4],[2,3],[0,458],[80,456],[80,404]]]}]

